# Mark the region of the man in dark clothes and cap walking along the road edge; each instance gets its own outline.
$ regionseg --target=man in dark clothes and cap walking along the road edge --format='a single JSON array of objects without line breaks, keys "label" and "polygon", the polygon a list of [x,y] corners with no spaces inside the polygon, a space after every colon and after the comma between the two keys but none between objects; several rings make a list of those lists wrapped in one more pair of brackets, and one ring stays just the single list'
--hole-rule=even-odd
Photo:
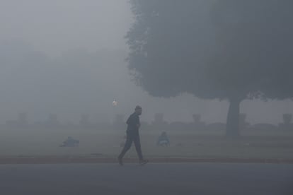
[{"label": "man in dark clothes and cap walking along the road edge", "polygon": [[147,160],[144,160],[142,157],[142,148],[140,146],[140,139],[139,139],[139,127],[140,127],[140,122],[139,122],[139,115],[142,114],[142,107],[137,106],[135,107],[134,113],[130,115],[130,117],[127,119],[127,138],[125,142],[125,146],[118,156],[118,162],[120,165],[123,165],[122,158],[127,152],[127,150],[130,149],[132,142],[134,142],[135,149],[137,150],[137,155],[139,157],[139,164],[144,165]]}]

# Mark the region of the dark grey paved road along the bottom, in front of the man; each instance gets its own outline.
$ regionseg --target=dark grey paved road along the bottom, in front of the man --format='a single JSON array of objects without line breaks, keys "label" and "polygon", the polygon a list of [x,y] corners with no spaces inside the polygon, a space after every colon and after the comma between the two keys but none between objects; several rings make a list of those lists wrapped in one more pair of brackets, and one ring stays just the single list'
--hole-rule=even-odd
[{"label": "dark grey paved road along the bottom, in front of the man", "polygon": [[292,195],[293,165],[0,165],[0,194]]}]

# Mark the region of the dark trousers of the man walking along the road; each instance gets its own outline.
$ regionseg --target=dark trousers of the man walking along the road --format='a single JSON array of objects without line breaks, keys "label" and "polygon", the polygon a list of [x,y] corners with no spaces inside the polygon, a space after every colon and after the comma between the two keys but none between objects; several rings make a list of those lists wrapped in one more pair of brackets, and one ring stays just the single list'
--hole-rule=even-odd
[{"label": "dark trousers of the man walking along the road", "polygon": [[123,158],[125,153],[130,149],[132,142],[134,142],[135,149],[137,150],[137,155],[139,156],[139,160],[143,160],[142,157],[142,148],[140,146],[139,132],[138,131],[127,131],[126,132],[126,142],[122,152],[119,155],[119,158]]}]

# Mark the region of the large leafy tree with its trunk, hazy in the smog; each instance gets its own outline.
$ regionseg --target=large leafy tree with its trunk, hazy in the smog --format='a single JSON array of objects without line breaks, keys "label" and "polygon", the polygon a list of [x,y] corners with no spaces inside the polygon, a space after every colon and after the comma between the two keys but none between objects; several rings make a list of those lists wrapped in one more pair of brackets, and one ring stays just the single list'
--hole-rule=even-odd
[{"label": "large leafy tree with its trunk, hazy in the smog", "polygon": [[293,97],[292,1],[132,0],[129,68],[154,96],[228,100],[239,135],[246,98]]}]

